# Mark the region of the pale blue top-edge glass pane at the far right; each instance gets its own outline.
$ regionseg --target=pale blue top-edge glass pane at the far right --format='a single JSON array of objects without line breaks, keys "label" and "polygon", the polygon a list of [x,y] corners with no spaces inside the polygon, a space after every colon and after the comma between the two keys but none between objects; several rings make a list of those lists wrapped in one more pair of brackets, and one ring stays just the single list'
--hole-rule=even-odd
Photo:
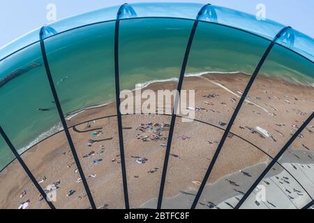
[{"label": "pale blue top-edge glass pane at the far right", "polygon": [[311,61],[314,60],[314,40],[295,29],[287,29],[276,43],[288,47]]}]

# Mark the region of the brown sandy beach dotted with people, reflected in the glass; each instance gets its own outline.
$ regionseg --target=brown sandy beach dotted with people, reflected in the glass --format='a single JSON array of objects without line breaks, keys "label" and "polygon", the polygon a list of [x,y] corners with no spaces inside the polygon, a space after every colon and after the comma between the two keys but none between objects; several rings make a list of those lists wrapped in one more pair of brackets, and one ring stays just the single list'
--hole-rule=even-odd
[{"label": "brown sandy beach dotted with people, reflected in the glass", "polygon": [[[241,73],[185,77],[183,89],[195,90],[195,107],[192,108],[195,109],[195,121],[186,123],[177,118],[163,208],[189,208],[249,78]],[[144,89],[177,89],[177,82],[156,82]],[[234,206],[237,201],[234,197],[239,198],[241,192],[248,190],[266,167],[269,156],[274,157],[302,121],[314,111],[313,99],[313,86],[257,77],[225,141],[197,208],[209,208],[206,203],[209,200],[220,208],[227,208],[229,205],[224,203],[227,199],[233,199],[227,203]],[[124,208],[116,114],[116,104],[112,102],[67,119],[98,208]],[[171,116],[158,114],[122,116],[131,208],[156,208],[170,120]],[[314,197],[311,181],[314,178],[313,131],[312,121],[279,162],[299,182],[304,183],[305,189]],[[303,156],[307,157],[306,160]],[[48,185],[56,185],[56,208],[90,208],[64,132],[33,146],[22,158],[38,182],[42,180],[40,185],[44,189]],[[297,164],[299,166],[295,169],[293,165]],[[276,178],[283,172],[274,171],[267,177]],[[301,172],[305,179],[301,177]],[[243,173],[250,173],[250,176]],[[292,179],[291,176],[289,178]],[[237,191],[230,187],[230,180],[241,182]],[[280,183],[277,184],[280,186]],[[278,185],[276,188],[280,188]],[[293,185],[297,190],[302,190],[297,183]],[[30,201],[28,208],[47,208],[45,201],[39,201],[36,188],[16,160],[1,171],[0,188],[0,208],[17,208],[27,200]],[[26,194],[20,197],[22,190]],[[308,199],[305,197],[297,204],[292,202],[292,206],[299,208],[302,203],[306,204]],[[245,207],[254,208],[255,203],[251,203],[251,206]]]}]

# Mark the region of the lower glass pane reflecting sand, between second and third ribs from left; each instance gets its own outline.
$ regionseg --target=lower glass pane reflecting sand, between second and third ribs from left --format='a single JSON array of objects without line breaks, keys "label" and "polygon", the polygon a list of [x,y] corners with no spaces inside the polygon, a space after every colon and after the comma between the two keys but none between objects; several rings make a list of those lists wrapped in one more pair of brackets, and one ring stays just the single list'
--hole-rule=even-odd
[{"label": "lower glass pane reflecting sand, between second and third ribs from left", "polygon": [[70,134],[96,207],[125,208],[117,118],[75,125]]}]

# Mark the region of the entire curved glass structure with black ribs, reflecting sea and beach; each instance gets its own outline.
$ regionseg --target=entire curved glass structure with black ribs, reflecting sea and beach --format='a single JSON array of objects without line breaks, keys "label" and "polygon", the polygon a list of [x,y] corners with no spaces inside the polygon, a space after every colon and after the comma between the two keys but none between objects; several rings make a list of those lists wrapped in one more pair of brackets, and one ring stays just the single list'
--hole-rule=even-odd
[{"label": "entire curved glass structure with black ribs, reflecting sea and beach", "polygon": [[[200,3],[54,22],[0,50],[1,129],[56,208],[303,208],[314,41],[283,27]],[[3,139],[0,208],[47,208]]]}]

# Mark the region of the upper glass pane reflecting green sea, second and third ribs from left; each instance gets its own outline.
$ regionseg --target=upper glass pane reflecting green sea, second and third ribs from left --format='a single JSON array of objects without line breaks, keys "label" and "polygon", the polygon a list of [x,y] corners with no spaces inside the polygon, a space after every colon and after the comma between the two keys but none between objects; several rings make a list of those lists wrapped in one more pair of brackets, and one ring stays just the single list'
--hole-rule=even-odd
[{"label": "upper glass pane reflecting green sea, second and third ribs from left", "polygon": [[[114,22],[45,40],[47,59],[68,125],[116,115]],[[101,111],[101,112],[100,112]]]}]

